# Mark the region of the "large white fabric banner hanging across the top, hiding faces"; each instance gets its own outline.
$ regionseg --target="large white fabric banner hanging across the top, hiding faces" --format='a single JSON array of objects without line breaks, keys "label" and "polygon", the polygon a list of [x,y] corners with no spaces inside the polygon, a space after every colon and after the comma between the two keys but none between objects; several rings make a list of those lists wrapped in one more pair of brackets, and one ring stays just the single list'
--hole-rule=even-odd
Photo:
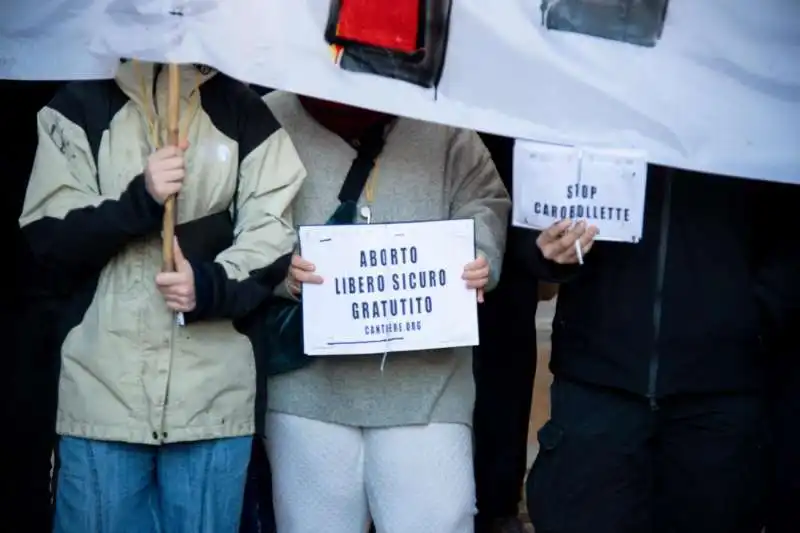
[{"label": "large white fabric banner hanging across the top, hiding faces", "polygon": [[200,62],[400,115],[800,182],[798,0],[671,0],[654,48],[548,31],[540,0],[455,0],[438,91],[339,69],[328,3],[5,0],[0,77],[104,77],[116,57]]}]

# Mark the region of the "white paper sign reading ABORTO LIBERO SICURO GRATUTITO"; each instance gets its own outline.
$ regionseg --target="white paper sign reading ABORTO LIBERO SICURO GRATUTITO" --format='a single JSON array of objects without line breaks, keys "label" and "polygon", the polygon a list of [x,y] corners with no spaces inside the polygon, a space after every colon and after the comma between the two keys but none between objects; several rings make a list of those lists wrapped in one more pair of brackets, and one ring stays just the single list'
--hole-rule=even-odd
[{"label": "white paper sign reading ABORTO LIBERO SICURO GRATUTITO", "polygon": [[321,285],[303,286],[308,355],[384,354],[478,344],[475,222],[302,226],[300,254]]}]

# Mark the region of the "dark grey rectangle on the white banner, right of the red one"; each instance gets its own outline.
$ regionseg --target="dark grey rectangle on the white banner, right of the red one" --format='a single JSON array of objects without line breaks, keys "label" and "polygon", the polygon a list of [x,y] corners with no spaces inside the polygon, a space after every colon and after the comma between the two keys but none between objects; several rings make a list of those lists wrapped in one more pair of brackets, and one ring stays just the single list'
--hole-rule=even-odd
[{"label": "dark grey rectangle on the white banner, right of the red one", "polygon": [[542,0],[548,29],[583,33],[639,46],[655,46],[669,0]]}]

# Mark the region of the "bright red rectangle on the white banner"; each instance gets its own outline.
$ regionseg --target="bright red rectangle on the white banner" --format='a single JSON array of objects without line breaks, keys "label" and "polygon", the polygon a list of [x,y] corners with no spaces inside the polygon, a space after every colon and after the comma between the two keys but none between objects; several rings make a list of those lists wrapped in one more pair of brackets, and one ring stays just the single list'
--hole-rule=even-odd
[{"label": "bright red rectangle on the white banner", "polygon": [[420,0],[341,0],[337,36],[411,53],[417,50]]}]

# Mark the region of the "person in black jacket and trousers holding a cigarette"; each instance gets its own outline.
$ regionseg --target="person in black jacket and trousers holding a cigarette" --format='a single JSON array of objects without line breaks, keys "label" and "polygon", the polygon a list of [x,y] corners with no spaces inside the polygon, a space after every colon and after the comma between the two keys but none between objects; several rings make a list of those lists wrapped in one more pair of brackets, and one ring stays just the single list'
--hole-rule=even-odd
[{"label": "person in black jacket and trousers holding a cigarette", "polygon": [[527,482],[537,533],[761,531],[763,347],[797,268],[775,193],[653,167],[640,243],[592,248],[569,221],[529,235],[531,268],[562,283]]}]

